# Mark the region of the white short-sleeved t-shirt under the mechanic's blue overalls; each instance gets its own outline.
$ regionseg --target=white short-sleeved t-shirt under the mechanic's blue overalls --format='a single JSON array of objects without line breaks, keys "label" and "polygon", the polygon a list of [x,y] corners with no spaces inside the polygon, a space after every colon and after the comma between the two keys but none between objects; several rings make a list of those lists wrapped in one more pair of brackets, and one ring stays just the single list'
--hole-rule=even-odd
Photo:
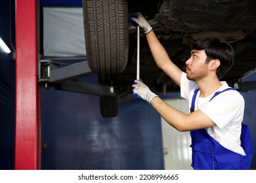
[{"label": "white short-sleeved t-shirt under the mechanic's blue overalls", "polygon": [[[221,82],[222,86],[216,90],[223,91],[228,88],[226,82]],[[186,73],[181,76],[181,97],[188,99],[189,107],[192,102],[194,90],[198,85],[186,78]],[[214,93],[215,93],[214,92]],[[195,110],[202,110],[216,125],[208,127],[207,133],[219,142],[224,148],[245,156],[241,147],[240,135],[244,116],[244,97],[236,90],[228,90],[210,99],[214,93],[208,97],[199,97],[200,90],[195,101]]]}]

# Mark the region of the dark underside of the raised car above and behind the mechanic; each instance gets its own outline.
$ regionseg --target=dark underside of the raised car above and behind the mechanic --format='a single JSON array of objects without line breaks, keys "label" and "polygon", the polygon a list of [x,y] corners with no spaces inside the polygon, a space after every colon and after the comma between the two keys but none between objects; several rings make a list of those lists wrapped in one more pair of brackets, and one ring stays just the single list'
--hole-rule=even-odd
[{"label": "dark underside of the raised car above and behind the mechanic", "polygon": [[[137,4],[140,6],[137,7]],[[182,71],[186,67],[186,59],[190,57],[193,42],[202,37],[218,37],[221,41],[232,44],[234,48],[234,65],[222,80],[233,85],[255,70],[256,1],[129,1],[129,11],[140,11],[148,19],[171,60]],[[141,35],[142,79],[145,82],[154,82],[154,86],[161,86],[156,87],[158,92],[176,90],[173,82],[156,68],[145,37]],[[136,49],[135,39],[135,30],[130,30],[130,40],[133,41],[129,48]],[[134,55],[130,58],[129,61],[136,62]],[[133,71],[136,70],[133,68]],[[131,71],[127,71],[129,72]]]}]

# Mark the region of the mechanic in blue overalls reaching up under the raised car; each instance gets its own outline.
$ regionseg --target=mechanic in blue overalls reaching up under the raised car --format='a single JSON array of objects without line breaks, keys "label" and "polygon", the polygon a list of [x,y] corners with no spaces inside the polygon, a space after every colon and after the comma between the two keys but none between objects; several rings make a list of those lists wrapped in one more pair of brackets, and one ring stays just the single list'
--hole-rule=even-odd
[{"label": "mechanic in blue overalls reaching up under the raised car", "polygon": [[[199,39],[192,46],[184,73],[171,61],[142,14],[129,14],[129,24],[144,30],[156,64],[181,87],[181,97],[194,105],[190,114],[184,114],[167,105],[143,82],[135,80],[133,84],[133,93],[148,101],[167,123],[178,131],[190,131],[192,167],[249,169],[253,147],[249,129],[247,133],[241,130],[245,125],[244,98],[226,82],[219,81],[234,62],[232,46],[217,38]],[[242,148],[244,143],[247,148]]]}]

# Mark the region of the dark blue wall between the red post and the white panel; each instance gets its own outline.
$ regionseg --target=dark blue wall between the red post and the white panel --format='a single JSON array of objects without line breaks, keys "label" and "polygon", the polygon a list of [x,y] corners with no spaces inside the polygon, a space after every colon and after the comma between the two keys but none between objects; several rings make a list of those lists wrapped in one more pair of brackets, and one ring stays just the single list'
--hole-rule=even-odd
[{"label": "dark blue wall between the red post and the white panel", "polygon": [[42,88],[42,169],[163,169],[160,116],[139,99],[102,118],[98,97]]}]

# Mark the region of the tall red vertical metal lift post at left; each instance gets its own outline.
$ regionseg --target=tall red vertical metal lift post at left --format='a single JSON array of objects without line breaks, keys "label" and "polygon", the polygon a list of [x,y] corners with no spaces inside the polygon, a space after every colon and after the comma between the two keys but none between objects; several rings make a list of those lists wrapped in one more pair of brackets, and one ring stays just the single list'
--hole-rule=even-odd
[{"label": "tall red vertical metal lift post at left", "polygon": [[39,169],[36,0],[16,0],[15,169]]}]

